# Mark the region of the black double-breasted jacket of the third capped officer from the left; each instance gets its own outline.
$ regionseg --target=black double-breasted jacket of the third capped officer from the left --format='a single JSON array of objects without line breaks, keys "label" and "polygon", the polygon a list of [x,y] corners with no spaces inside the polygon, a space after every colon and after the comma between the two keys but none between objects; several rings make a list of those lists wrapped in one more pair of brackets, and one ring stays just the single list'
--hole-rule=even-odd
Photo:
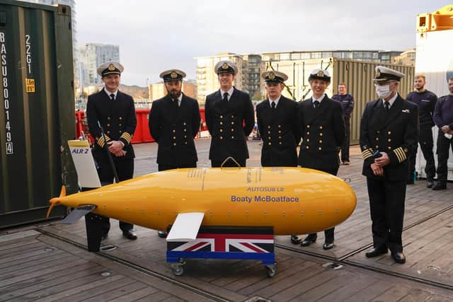
[{"label": "black double-breasted jacket of the third capped officer from the left", "polygon": [[[226,103],[226,104],[225,104]],[[248,158],[246,137],[255,125],[250,95],[234,88],[228,102],[220,91],[206,96],[205,118],[211,134],[210,160],[223,161],[233,156],[236,161]]]}]

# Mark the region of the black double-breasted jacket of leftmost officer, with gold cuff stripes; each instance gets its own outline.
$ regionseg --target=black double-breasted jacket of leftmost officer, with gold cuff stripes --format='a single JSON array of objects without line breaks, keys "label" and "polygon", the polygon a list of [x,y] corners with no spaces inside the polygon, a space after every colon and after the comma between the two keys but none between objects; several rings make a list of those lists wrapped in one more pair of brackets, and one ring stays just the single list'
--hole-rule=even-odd
[{"label": "black double-breasted jacket of leftmost officer, with gold cuff stripes", "polygon": [[134,158],[134,149],[132,148],[132,135],[137,125],[135,116],[134,100],[132,96],[118,91],[115,100],[110,100],[103,88],[98,93],[88,96],[86,103],[86,119],[88,120],[88,129],[95,140],[93,147],[93,156],[103,156],[105,150],[105,141],[101,136],[101,129],[98,127],[98,121],[104,129],[107,141],[122,141],[125,146],[122,148],[126,155],[122,157],[112,156],[115,161],[122,158]]}]

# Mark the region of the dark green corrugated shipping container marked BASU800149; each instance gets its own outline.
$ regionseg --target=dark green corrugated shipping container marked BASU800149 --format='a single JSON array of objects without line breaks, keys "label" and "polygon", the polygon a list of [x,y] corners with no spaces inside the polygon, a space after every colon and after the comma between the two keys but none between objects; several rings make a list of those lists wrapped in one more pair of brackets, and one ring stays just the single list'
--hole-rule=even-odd
[{"label": "dark green corrugated shipping container marked BASU800149", "polygon": [[0,1],[0,66],[2,228],[45,219],[62,185],[78,189],[70,7]]}]

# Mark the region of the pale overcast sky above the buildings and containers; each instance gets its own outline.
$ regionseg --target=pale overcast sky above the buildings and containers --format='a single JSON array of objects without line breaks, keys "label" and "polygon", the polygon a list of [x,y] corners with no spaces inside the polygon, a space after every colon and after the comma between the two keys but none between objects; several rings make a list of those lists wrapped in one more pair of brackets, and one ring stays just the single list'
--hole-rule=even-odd
[{"label": "pale overcast sky above the buildings and containers", "polygon": [[219,52],[406,50],[417,13],[442,0],[76,0],[79,43],[120,46],[122,83],[145,86],[165,69],[195,79],[195,57]]}]

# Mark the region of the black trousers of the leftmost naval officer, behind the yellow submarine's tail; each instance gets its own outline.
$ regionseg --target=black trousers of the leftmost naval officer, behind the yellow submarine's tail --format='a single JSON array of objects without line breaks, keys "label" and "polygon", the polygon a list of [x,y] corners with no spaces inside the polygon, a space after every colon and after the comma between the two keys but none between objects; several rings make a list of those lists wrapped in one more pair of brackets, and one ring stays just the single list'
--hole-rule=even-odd
[{"label": "black trousers of the leftmost naval officer, behind the yellow submarine's tail", "polygon": [[[115,157],[114,155],[112,155]],[[98,175],[102,185],[108,185],[113,183],[115,176],[113,174],[112,167],[108,161],[107,156],[98,158]],[[134,158],[120,158],[115,159],[115,168],[118,174],[120,182],[122,180],[129,180],[134,176]],[[102,223],[102,234],[106,236],[110,231],[110,219],[105,216],[101,216],[103,219]],[[131,230],[134,227],[132,223],[120,221],[120,229],[123,233]]]}]

